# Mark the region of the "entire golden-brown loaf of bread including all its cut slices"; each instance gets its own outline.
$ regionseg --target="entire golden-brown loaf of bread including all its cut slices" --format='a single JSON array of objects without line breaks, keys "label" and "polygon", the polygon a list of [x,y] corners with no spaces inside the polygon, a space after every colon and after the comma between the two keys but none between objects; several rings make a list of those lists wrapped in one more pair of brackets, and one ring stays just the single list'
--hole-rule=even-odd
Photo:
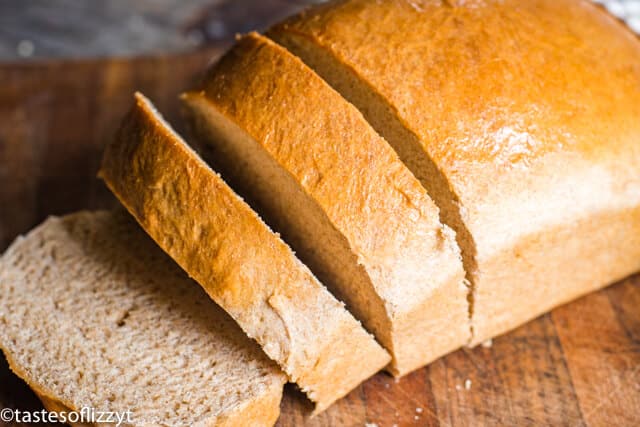
[{"label": "entire golden-brown loaf of bread including all its cut slices", "polygon": [[47,408],[272,425],[287,376],[322,411],[640,270],[640,41],[590,2],[341,0],[268,37],[182,100],[310,268],[137,94],[100,176],[202,289],[122,213],[16,240],[0,348]]}]

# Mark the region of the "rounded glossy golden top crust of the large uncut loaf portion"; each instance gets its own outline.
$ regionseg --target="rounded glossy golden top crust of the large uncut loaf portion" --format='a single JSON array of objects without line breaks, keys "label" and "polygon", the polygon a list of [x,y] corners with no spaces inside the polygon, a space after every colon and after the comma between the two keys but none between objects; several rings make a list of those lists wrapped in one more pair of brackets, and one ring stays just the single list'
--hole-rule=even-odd
[{"label": "rounded glossy golden top crust of the large uncut loaf portion", "polygon": [[539,216],[640,200],[640,42],[589,1],[338,1],[273,31],[321,45],[372,88],[479,235],[518,222],[488,221],[495,204]]}]

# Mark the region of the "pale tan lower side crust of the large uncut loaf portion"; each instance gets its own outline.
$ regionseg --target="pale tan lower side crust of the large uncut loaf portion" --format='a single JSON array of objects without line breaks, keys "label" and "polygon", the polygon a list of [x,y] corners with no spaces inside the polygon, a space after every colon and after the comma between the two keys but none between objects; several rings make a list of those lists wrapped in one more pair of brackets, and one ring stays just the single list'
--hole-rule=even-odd
[{"label": "pale tan lower side crust of the large uncut loaf portion", "polygon": [[[475,298],[482,310],[476,322],[491,325],[495,334],[507,332],[640,270],[640,206],[576,218],[521,237],[481,265],[485,268],[477,275]],[[504,274],[510,270],[528,274],[514,286]]]}]

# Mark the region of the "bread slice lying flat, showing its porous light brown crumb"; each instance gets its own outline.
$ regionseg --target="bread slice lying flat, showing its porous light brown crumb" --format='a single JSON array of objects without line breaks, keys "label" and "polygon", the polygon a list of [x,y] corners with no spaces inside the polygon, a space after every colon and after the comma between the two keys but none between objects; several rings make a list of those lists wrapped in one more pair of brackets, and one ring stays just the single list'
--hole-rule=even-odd
[{"label": "bread slice lying flat, showing its porous light brown crumb", "polygon": [[124,212],[50,217],[16,239],[0,347],[48,409],[131,411],[127,425],[271,426],[286,381]]}]

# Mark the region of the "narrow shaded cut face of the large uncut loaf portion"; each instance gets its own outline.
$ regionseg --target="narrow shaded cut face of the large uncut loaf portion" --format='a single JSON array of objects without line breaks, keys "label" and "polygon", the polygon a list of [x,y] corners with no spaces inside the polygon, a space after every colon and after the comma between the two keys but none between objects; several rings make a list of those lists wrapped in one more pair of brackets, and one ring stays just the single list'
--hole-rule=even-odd
[{"label": "narrow shaded cut face of the large uncut loaf portion", "polygon": [[[292,31],[271,31],[267,35],[298,56],[358,108],[376,132],[394,148],[403,163],[420,180],[429,196],[440,208],[441,222],[456,232],[456,241],[462,253],[462,262],[469,285],[467,300],[470,320],[474,308],[473,275],[477,270],[476,246],[462,220],[458,197],[436,164],[424,155],[419,138],[400,121],[387,101],[377,95],[366,82],[359,79],[347,65],[338,61],[321,46],[309,41],[302,34]],[[473,335],[471,322],[469,325]]]}]

